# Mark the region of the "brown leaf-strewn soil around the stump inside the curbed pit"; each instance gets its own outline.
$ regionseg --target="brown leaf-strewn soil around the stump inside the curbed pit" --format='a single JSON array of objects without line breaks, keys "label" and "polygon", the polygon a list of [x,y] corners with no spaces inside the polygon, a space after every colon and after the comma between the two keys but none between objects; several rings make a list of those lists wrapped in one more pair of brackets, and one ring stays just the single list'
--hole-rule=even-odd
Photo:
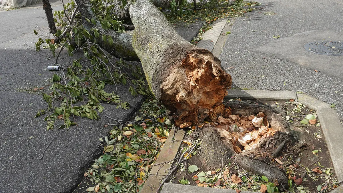
[{"label": "brown leaf-strewn soil around the stump inside the curbed pit", "polygon": [[[286,121],[287,118],[289,118],[287,122],[289,123],[289,129],[292,134],[289,138],[291,138],[290,141],[292,142],[287,143],[276,158],[267,156],[267,153],[264,155],[263,152],[259,156],[255,155],[256,159],[263,160],[272,168],[284,173],[284,175],[289,179],[289,182],[292,182],[292,184],[288,183],[290,185],[290,187],[287,188],[288,192],[323,193],[331,191],[339,185],[335,179],[333,165],[321,131],[320,123],[306,125],[300,124],[300,121],[303,120],[306,115],[316,115],[313,110],[306,108],[302,104],[298,104],[296,101],[284,102],[257,100],[242,102],[246,105],[248,105],[247,103],[250,103],[259,107],[261,107],[261,105],[269,106],[273,112],[278,113],[280,117],[284,118]],[[231,101],[229,103],[237,104],[240,103],[240,101]],[[319,122],[318,119],[316,119],[316,121]],[[189,131],[189,133],[196,133],[196,131]],[[193,136],[192,140],[196,139],[197,137]],[[183,148],[187,148],[188,145],[183,143],[182,146]],[[277,192],[276,187],[282,189],[280,185],[278,186],[278,182],[267,182],[256,173],[245,171],[237,164],[236,158],[230,157],[228,159],[227,156],[220,154],[222,152],[211,152],[211,147],[200,146],[200,148],[196,149],[196,152],[196,155],[193,155],[188,159],[187,167],[184,167],[184,171],[181,171],[182,167],[180,167],[175,177],[171,179],[171,182],[180,183],[179,181],[181,179],[187,179],[189,181],[189,185],[204,187],[216,186],[216,188],[239,189],[242,191],[259,191],[262,184],[273,186],[272,189],[269,190],[270,192]],[[216,154],[216,168],[210,168],[206,166],[206,164],[203,164],[199,155],[204,152],[206,154]],[[253,158],[253,160],[255,158]],[[225,162],[224,159],[228,160]],[[185,163],[183,163],[183,166],[184,165]],[[187,168],[191,165],[197,166],[198,171],[190,173]],[[201,171],[209,173],[206,174],[206,182],[208,183],[199,183],[199,181],[197,181],[197,175],[199,175]],[[218,178],[223,174],[225,174],[227,178],[221,178],[222,180],[219,179],[221,181],[218,182]],[[236,176],[233,176],[234,174]],[[234,183],[236,177],[239,177],[238,179],[241,179],[241,182]]]}]

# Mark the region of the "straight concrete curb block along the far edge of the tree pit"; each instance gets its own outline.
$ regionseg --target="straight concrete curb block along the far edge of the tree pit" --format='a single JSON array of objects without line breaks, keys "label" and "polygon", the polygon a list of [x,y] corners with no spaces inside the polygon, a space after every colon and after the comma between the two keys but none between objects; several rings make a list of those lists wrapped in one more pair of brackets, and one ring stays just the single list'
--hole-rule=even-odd
[{"label": "straight concrete curb block along the far edge of the tree pit", "polygon": [[267,90],[227,90],[228,94],[224,99],[264,99],[264,100],[296,100],[296,92],[293,91],[267,91]]}]

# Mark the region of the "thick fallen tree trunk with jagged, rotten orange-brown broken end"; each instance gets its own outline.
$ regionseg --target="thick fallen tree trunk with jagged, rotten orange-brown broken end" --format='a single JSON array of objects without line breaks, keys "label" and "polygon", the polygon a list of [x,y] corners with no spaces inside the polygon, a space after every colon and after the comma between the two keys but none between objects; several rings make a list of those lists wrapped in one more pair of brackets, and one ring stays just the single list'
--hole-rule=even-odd
[{"label": "thick fallen tree trunk with jagged, rotten orange-brown broken end", "polygon": [[132,45],[156,98],[177,116],[175,124],[201,123],[223,102],[232,81],[220,60],[176,33],[151,2],[130,6]]}]

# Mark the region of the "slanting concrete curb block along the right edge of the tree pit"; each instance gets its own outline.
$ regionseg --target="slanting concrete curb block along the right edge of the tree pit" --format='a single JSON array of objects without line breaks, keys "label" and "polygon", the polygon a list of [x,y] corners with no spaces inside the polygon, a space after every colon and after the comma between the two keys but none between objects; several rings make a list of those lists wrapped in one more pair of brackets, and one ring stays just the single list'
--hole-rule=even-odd
[{"label": "slanting concrete curb block along the right edge of the tree pit", "polygon": [[339,182],[343,181],[343,127],[334,109],[317,111],[320,126],[328,146],[333,167]]}]

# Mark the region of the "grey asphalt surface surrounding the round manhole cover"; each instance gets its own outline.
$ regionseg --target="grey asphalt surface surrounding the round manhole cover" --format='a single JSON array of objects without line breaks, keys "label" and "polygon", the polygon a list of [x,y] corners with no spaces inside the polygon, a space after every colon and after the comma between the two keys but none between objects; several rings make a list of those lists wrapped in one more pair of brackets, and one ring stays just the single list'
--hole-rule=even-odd
[{"label": "grey asphalt surface surrounding the round manhole cover", "polygon": [[220,55],[234,88],[304,92],[336,104],[342,121],[343,56],[317,55],[303,46],[322,39],[343,42],[343,2],[258,2],[256,11],[232,20]]}]

